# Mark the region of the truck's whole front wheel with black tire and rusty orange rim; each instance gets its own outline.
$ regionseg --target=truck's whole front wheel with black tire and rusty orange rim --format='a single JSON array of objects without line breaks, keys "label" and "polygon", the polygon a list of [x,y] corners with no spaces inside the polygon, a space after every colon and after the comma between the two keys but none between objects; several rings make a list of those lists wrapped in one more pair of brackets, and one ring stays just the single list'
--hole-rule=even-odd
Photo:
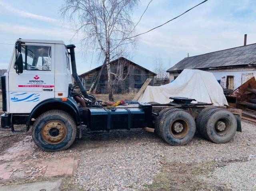
[{"label": "truck's whole front wheel with black tire and rusty orange rim", "polygon": [[32,138],[43,150],[65,150],[76,138],[76,124],[67,112],[50,110],[41,114],[34,122]]}]

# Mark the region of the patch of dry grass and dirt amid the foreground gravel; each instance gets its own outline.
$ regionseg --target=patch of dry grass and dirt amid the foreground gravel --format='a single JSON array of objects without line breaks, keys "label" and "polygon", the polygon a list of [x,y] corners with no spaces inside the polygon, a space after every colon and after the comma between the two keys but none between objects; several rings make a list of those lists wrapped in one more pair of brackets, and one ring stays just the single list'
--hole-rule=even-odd
[{"label": "patch of dry grass and dirt amid the foreground gravel", "polygon": [[196,191],[222,190],[219,186],[210,185],[196,178],[197,175],[209,174],[214,171],[216,162],[206,161],[197,165],[166,163],[164,171],[154,177],[152,185],[144,185],[150,191]]}]

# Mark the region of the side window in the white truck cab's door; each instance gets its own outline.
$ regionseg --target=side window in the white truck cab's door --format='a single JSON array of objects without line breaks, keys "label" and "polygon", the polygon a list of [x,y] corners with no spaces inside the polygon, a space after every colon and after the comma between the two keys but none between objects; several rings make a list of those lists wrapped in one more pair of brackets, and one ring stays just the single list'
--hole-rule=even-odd
[{"label": "side window in the white truck cab's door", "polygon": [[22,45],[24,70],[51,71],[51,47]]}]

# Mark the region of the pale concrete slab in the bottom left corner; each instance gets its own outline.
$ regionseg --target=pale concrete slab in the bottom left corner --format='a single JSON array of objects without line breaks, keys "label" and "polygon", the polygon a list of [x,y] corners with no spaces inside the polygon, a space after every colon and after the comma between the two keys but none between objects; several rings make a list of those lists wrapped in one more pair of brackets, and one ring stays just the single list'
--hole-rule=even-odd
[{"label": "pale concrete slab in the bottom left corner", "polygon": [[60,191],[61,179],[54,181],[43,181],[28,184],[2,186],[0,191]]}]

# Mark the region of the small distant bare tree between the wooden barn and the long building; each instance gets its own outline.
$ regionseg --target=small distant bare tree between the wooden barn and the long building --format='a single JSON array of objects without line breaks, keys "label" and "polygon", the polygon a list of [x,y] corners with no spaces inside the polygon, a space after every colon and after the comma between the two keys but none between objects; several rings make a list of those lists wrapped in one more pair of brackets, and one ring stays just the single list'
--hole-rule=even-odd
[{"label": "small distant bare tree between the wooden barn and the long building", "polygon": [[156,57],[154,61],[154,73],[157,74],[157,80],[166,80],[168,79],[168,73],[166,72],[167,68],[163,63],[161,57]]}]

